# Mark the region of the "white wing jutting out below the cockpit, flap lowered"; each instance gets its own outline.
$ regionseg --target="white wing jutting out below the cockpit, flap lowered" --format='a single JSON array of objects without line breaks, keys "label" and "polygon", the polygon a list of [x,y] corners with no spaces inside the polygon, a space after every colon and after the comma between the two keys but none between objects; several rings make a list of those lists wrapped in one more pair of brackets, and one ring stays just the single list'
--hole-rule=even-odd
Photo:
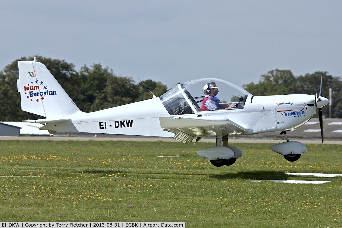
[{"label": "white wing jutting out below the cockpit, flap lowered", "polygon": [[160,117],[163,130],[175,134],[182,143],[190,143],[195,137],[248,134],[252,128],[221,116]]}]

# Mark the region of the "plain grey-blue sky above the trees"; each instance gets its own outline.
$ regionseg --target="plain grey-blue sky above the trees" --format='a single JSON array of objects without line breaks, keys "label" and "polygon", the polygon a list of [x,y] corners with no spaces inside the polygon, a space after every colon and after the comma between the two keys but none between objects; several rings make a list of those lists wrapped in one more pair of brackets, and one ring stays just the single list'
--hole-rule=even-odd
[{"label": "plain grey-blue sky above the trees", "polygon": [[1,1],[0,70],[34,55],[76,70],[242,86],[269,70],[342,75],[342,1]]}]

